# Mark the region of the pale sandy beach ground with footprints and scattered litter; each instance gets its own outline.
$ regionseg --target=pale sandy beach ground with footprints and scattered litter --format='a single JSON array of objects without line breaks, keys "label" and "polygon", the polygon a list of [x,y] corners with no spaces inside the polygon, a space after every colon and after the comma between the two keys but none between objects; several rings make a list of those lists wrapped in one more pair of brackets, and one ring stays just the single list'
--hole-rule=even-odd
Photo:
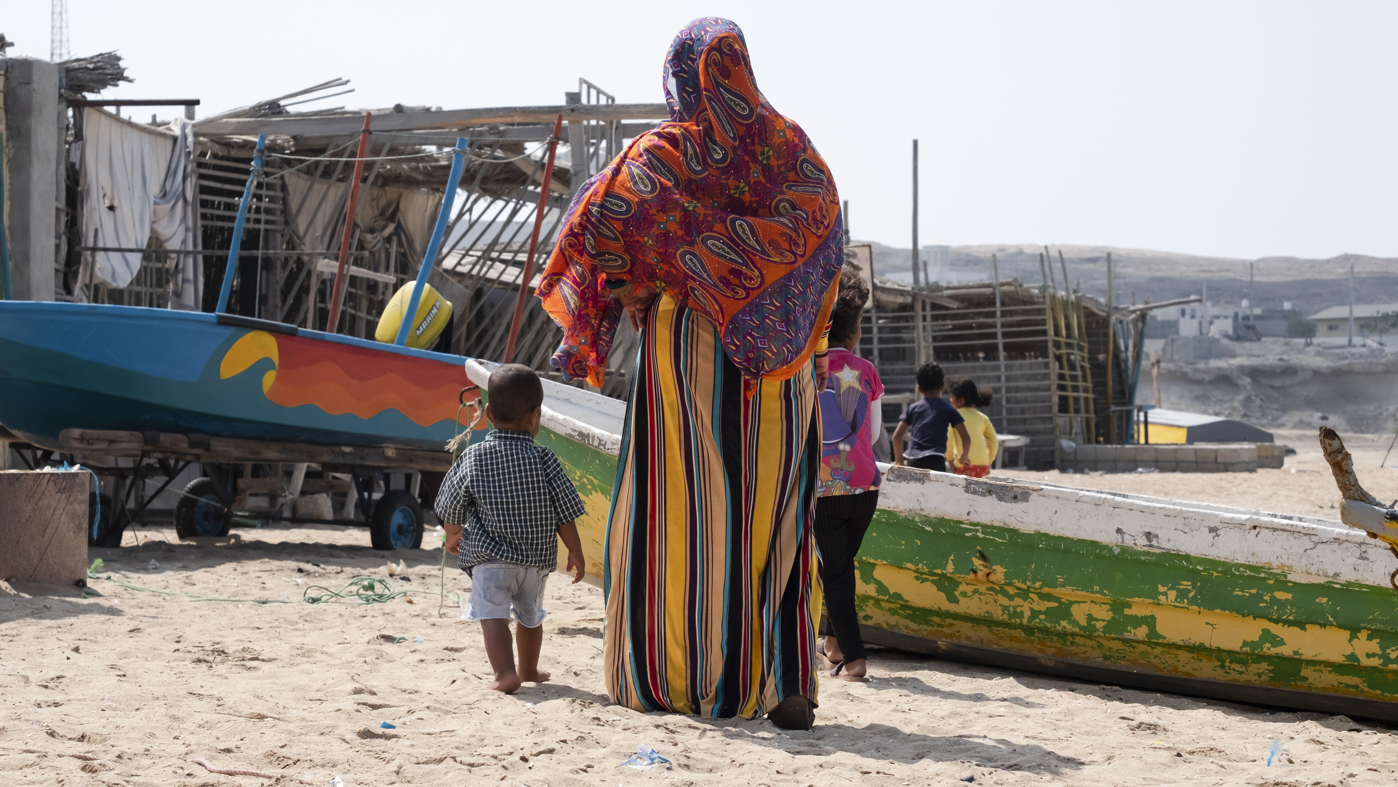
[{"label": "pale sandy beach ground with footprints and scattered litter", "polygon": [[[1387,439],[1346,439],[1369,489],[1385,500],[1398,496],[1398,471],[1377,470]],[[1318,453],[1290,435],[1279,440],[1299,449],[1285,470],[1033,478],[1334,516],[1336,493]],[[569,586],[562,575],[549,580],[541,663],[554,678],[505,696],[485,688],[478,626],[459,619],[452,594],[468,587],[459,570],[446,572],[439,616],[438,548],[394,554],[408,566],[404,582],[387,577],[387,555],[370,549],[362,530],[266,527],[193,544],[148,527],[124,544],[91,556],[105,561],[103,575],[161,593],[109,580],[94,580],[87,598],[77,589],[0,584],[0,781],[1398,783],[1398,739],[1342,716],[884,649],[871,654],[872,679],[822,681],[811,732],[781,732],[763,720],[635,713],[605,695],[601,591]],[[429,533],[425,547],[436,545]],[[309,586],[338,590],[361,575],[389,579],[408,595],[382,604],[281,602]],[[618,767],[639,745],[672,765]],[[275,779],[217,774],[196,760]]]}]

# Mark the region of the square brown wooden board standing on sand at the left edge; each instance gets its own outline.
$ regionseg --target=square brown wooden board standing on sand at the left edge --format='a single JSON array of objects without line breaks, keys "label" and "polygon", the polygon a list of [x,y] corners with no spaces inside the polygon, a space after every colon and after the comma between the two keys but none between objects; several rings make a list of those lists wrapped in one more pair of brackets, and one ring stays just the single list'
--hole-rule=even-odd
[{"label": "square brown wooden board standing on sand at the left edge", "polygon": [[0,471],[0,579],[85,582],[91,479],[85,470]]}]

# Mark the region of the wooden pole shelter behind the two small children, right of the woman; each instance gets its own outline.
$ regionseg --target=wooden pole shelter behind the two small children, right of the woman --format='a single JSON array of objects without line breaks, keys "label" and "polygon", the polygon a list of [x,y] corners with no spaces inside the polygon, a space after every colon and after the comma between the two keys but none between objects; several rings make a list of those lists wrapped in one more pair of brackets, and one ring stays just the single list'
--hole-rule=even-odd
[{"label": "wooden pole shelter behind the two small children, right of the woman", "polygon": [[949,382],[970,377],[994,389],[986,414],[997,431],[1029,438],[1030,470],[1057,467],[1060,440],[1130,442],[1135,313],[1019,280],[923,288],[874,281],[860,351],[884,379],[885,424],[914,400],[917,368],[937,361]]}]

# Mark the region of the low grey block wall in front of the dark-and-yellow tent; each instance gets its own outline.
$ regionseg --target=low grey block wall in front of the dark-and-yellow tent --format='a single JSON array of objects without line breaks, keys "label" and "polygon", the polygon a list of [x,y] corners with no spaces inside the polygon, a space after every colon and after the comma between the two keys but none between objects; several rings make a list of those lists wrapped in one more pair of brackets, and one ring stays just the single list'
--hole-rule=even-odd
[{"label": "low grey block wall in front of the dark-and-yellow tent", "polygon": [[1254,472],[1281,468],[1286,446],[1276,443],[1165,443],[1153,446],[1075,446],[1064,450],[1058,470],[1072,472]]}]

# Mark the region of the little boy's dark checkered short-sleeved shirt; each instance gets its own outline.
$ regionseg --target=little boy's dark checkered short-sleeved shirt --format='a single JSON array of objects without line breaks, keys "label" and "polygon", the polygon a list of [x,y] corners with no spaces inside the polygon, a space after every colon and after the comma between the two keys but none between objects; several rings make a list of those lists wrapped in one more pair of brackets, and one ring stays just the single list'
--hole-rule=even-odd
[{"label": "little boy's dark checkered short-sleeved shirt", "polygon": [[528,432],[495,429],[456,460],[435,506],[461,524],[463,570],[489,562],[558,568],[558,528],[587,510],[554,452]]}]

